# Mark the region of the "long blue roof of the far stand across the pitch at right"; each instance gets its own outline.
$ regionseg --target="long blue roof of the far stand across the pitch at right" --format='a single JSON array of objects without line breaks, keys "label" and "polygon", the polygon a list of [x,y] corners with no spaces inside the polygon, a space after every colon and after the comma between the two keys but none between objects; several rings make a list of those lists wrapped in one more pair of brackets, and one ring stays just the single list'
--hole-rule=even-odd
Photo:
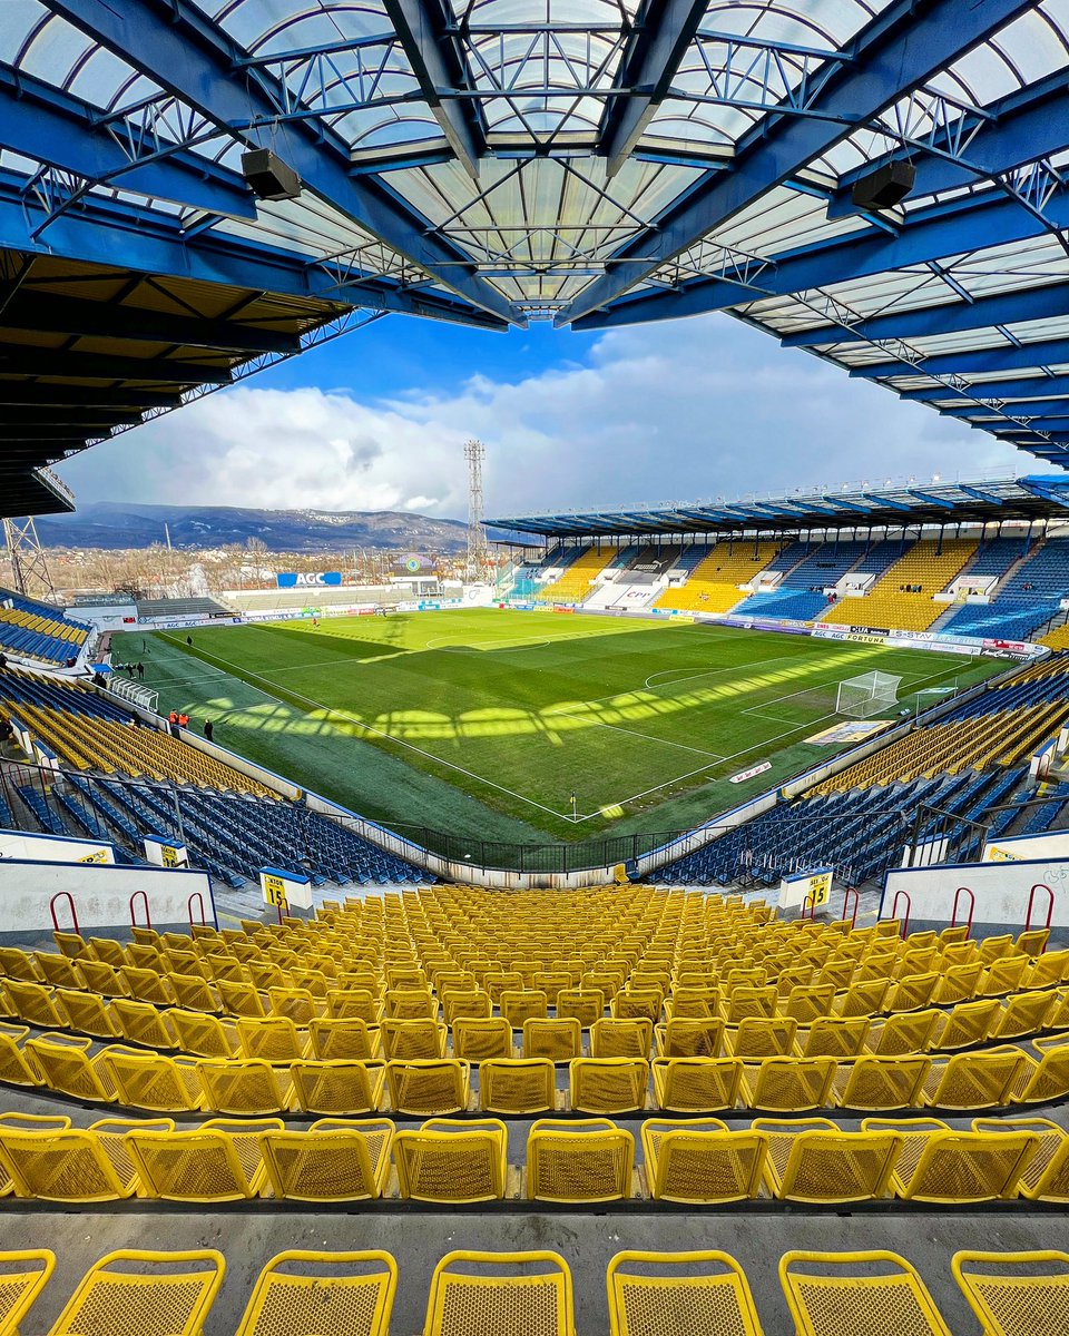
[{"label": "long blue roof of the far stand across the pitch at right", "polygon": [[[795,533],[913,525],[1069,520],[1069,477],[907,482],[743,501],[695,502],[636,510],[588,510],[488,520],[496,529],[545,538],[671,537],[700,533]],[[505,540],[508,541],[508,540]]]}]

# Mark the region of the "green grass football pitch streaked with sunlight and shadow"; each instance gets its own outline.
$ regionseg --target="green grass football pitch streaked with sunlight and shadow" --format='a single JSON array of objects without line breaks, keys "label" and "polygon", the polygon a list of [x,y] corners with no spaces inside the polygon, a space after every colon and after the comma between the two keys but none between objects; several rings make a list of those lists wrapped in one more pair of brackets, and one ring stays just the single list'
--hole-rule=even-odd
[{"label": "green grass football pitch streaked with sunlight and shadow", "polygon": [[[131,633],[160,708],[365,815],[488,839],[672,830],[835,754],[843,677],[998,663],[694,624],[473,609]],[[144,644],[144,649],[142,649]],[[926,703],[933,699],[929,696]],[[728,778],[771,762],[752,780]],[[575,795],[575,804],[572,803]]]}]

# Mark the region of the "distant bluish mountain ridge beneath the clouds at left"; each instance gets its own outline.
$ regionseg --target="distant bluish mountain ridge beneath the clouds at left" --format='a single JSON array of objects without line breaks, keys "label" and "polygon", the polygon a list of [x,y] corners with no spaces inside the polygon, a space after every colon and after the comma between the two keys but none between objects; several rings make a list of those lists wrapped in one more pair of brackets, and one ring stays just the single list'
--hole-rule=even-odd
[{"label": "distant bluish mountain ridge beneath the clouds at left", "polygon": [[465,545],[458,520],[433,520],[405,510],[243,510],[237,506],[130,505],[99,501],[73,514],[37,520],[49,548],[222,548],[261,538],[271,552],[345,552],[397,548],[456,552]]}]

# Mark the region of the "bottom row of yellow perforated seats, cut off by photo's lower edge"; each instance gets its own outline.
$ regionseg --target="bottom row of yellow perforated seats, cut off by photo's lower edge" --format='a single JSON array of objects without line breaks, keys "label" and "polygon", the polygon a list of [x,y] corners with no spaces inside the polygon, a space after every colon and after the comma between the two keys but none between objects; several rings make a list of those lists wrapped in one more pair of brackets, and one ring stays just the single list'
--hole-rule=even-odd
[{"label": "bottom row of yellow perforated seats, cut off by photo's lower edge", "polygon": [[[47,1249],[0,1253],[0,1329],[31,1312],[55,1264]],[[962,1250],[950,1267],[986,1336],[1064,1332],[1069,1253]],[[200,1336],[224,1269],[214,1249],[108,1253],[49,1336]],[[235,1336],[389,1336],[397,1280],[388,1252],[279,1253],[259,1273]],[[919,1272],[897,1253],[794,1250],[780,1257],[779,1280],[798,1336],[950,1336]],[[746,1272],[719,1249],[616,1253],[605,1288],[609,1336],[763,1336]],[[437,1263],[424,1336],[490,1333],[576,1336],[564,1257],[457,1250]]]}]

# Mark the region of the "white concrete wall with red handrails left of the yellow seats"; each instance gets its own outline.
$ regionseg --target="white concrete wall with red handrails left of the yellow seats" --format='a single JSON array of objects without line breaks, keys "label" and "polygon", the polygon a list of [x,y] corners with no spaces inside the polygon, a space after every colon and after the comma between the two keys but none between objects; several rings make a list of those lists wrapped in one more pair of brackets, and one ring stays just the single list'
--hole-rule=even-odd
[{"label": "white concrete wall with red handrails left of the yellow seats", "polygon": [[[204,919],[218,927],[207,872],[5,859],[0,863],[0,943],[20,946],[51,937],[49,904],[61,892],[68,892],[73,900],[83,937],[124,937],[131,926],[131,896],[139,891],[147,896],[148,918],[159,931],[188,931],[190,898],[196,892],[203,896]],[[135,911],[138,925],[144,926],[146,904],[140,895]],[[199,902],[192,914],[199,922]],[[65,898],[56,900],[56,918],[64,931],[73,929]]]}]

